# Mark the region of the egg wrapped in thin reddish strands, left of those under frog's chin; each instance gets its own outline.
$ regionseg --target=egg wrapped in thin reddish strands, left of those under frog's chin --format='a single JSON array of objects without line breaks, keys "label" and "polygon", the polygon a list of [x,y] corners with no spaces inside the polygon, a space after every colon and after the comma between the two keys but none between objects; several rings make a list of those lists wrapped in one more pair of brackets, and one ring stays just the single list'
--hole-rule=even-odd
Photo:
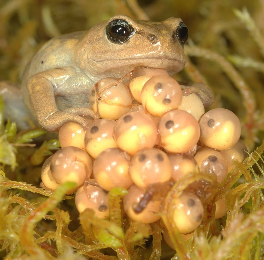
[{"label": "egg wrapped in thin reddish strands, left of those under frog's chin", "polygon": [[101,118],[117,120],[132,107],[132,98],[126,85],[123,82],[111,85],[118,80],[118,78],[101,79],[91,91],[90,107],[97,111]]}]

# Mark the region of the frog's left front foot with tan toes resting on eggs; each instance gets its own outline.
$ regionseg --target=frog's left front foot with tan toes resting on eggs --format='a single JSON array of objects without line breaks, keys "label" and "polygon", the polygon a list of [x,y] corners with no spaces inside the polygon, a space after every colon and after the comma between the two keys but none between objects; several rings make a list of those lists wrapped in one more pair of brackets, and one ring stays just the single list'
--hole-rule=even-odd
[{"label": "frog's left front foot with tan toes resting on eggs", "polygon": [[90,108],[69,108],[63,111],[58,110],[41,120],[40,125],[50,132],[57,132],[63,124],[72,121],[81,124],[86,130],[89,125],[87,120],[80,115],[89,115],[93,117],[94,112]]}]

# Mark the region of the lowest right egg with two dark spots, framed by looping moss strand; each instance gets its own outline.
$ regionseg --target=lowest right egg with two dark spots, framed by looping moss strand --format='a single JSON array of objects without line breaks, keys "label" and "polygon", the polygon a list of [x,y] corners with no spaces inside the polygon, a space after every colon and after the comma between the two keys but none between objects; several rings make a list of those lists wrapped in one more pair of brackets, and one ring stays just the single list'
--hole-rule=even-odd
[{"label": "lowest right egg with two dark spots, framed by looping moss strand", "polygon": [[197,229],[204,216],[201,200],[193,193],[184,191],[173,204],[173,219],[180,233],[189,233]]}]

